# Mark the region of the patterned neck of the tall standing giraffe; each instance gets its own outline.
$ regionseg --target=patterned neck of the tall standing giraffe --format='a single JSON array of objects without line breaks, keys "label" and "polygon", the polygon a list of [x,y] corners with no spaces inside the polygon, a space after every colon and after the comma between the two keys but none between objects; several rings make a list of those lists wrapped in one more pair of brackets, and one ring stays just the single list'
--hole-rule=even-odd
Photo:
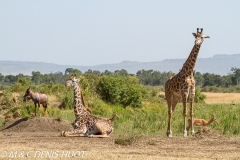
[{"label": "patterned neck of the tall standing giraffe", "polygon": [[201,44],[200,45],[195,44],[193,46],[191,53],[189,54],[187,60],[183,64],[181,72],[187,75],[191,75],[193,73],[200,47],[201,47]]}]

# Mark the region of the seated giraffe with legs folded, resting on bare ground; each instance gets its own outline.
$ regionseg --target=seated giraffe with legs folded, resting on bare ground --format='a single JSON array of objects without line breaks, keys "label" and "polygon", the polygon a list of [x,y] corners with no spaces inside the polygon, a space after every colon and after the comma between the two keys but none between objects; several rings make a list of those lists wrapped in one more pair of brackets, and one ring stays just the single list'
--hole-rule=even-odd
[{"label": "seated giraffe with legs folded, resting on bare ground", "polygon": [[66,86],[73,87],[74,90],[74,113],[76,120],[72,123],[73,130],[62,131],[61,135],[66,136],[84,136],[88,137],[109,137],[113,132],[111,121],[105,118],[93,116],[85,107],[81,88],[78,84],[80,79],[74,76],[66,81]]}]

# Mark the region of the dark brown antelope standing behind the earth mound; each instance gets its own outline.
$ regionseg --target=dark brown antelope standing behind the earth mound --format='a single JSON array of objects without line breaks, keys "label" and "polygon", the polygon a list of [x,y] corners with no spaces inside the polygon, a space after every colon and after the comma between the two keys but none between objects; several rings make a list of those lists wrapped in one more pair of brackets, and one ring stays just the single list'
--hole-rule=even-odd
[{"label": "dark brown antelope standing behind the earth mound", "polygon": [[23,96],[23,101],[26,101],[27,99],[32,99],[35,105],[35,116],[36,116],[36,107],[38,104],[38,110],[40,108],[40,104],[42,104],[44,108],[44,116],[46,116],[46,111],[47,111],[47,102],[48,102],[48,97],[46,94],[41,94],[39,92],[33,93],[30,90],[30,87],[27,89],[25,95]]}]

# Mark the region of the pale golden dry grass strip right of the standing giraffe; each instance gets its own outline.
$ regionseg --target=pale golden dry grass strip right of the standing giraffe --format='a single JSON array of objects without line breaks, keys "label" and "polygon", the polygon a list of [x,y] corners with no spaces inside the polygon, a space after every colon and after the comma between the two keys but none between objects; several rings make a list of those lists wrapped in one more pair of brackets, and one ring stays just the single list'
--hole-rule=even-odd
[{"label": "pale golden dry grass strip right of the standing giraffe", "polygon": [[237,104],[240,103],[240,93],[211,93],[202,92],[207,96],[205,102],[208,104]]}]

